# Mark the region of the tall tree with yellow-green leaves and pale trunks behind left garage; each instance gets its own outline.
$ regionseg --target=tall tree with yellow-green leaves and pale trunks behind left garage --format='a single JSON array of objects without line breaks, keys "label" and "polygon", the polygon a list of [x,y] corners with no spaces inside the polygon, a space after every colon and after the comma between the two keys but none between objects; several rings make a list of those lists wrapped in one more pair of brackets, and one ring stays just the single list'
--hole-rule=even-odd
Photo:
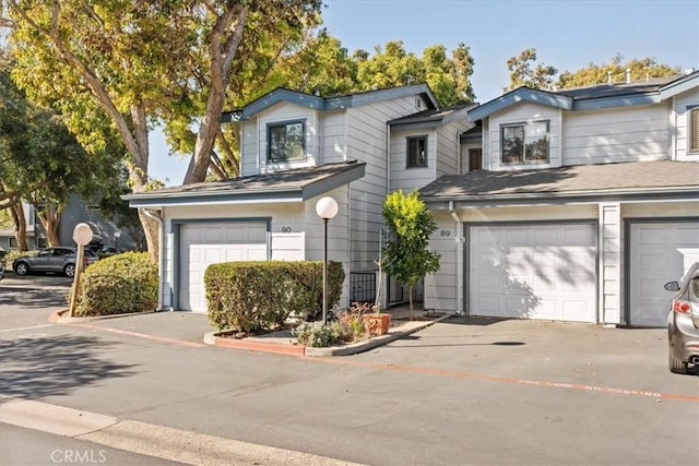
[{"label": "tall tree with yellow-green leaves and pale trunks behind left garage", "polygon": [[[149,188],[147,133],[161,120],[171,138],[198,127],[185,183],[202,181],[233,63],[245,73],[253,50],[287,46],[299,29],[317,24],[320,8],[319,0],[5,4],[3,23],[20,64],[15,81],[33,100],[59,107],[90,152],[104,146],[95,127],[107,119],[128,153],[134,192]],[[140,216],[155,255],[156,225]]]}]

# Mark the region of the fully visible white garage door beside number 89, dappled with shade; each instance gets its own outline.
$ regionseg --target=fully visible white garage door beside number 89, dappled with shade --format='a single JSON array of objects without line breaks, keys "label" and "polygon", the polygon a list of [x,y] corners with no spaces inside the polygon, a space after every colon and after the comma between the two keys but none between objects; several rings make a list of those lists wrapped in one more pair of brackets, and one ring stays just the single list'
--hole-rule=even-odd
[{"label": "fully visible white garage door beside number 89, dappled with shade", "polygon": [[591,224],[471,227],[469,313],[596,321]]}]

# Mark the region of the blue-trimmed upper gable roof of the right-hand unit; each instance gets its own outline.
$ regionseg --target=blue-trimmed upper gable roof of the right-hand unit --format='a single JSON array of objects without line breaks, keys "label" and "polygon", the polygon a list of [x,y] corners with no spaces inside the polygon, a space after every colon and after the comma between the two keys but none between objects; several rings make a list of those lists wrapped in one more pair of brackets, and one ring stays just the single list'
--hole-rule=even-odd
[{"label": "blue-trimmed upper gable roof of the right-hand unit", "polygon": [[469,111],[481,120],[520,101],[531,101],[564,110],[593,110],[625,105],[657,104],[699,86],[699,71],[633,83],[600,84],[559,91],[518,87]]}]

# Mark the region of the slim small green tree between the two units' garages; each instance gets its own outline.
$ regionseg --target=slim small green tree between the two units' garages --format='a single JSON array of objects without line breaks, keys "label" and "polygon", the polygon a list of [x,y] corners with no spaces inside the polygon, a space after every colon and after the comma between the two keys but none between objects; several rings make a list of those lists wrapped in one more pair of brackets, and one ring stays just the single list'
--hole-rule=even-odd
[{"label": "slim small green tree between the two units' garages", "polygon": [[389,227],[383,247],[386,272],[401,285],[407,285],[411,320],[413,320],[413,287],[418,279],[439,270],[440,255],[427,249],[437,223],[417,191],[404,195],[399,190],[383,202],[382,215]]}]

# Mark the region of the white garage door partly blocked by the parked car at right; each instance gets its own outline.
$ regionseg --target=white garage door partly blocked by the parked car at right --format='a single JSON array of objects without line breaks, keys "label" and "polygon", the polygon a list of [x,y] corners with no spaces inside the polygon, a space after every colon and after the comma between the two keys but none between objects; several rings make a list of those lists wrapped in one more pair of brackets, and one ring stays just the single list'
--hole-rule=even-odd
[{"label": "white garage door partly blocked by the parked car at right", "polygon": [[628,323],[665,326],[672,292],[663,285],[699,261],[699,224],[631,224],[629,237]]}]

